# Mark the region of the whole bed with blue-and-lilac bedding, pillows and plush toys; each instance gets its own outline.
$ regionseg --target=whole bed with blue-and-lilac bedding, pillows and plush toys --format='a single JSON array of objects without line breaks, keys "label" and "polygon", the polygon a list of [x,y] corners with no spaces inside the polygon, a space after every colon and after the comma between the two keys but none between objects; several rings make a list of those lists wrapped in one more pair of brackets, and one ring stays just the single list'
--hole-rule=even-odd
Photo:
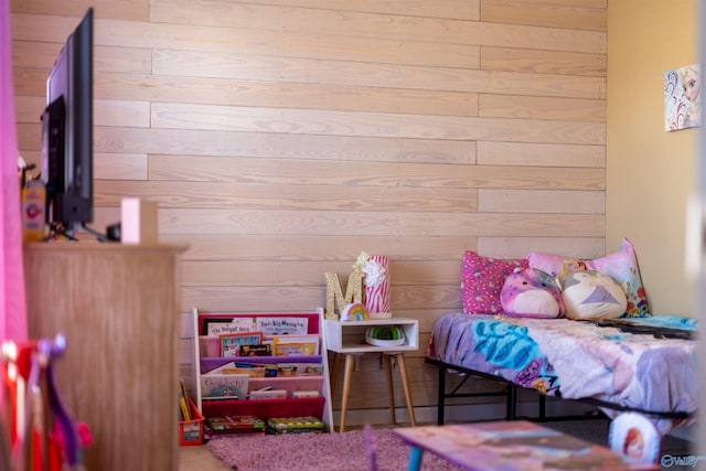
[{"label": "whole bed with blue-and-lilac bedding, pillows and plush toys", "polygon": [[448,372],[503,383],[506,418],[520,388],[597,406],[609,417],[648,416],[665,433],[694,421],[697,322],[652,315],[638,257],[627,238],[618,251],[576,259],[547,253],[499,259],[466,250],[462,312],[435,323],[426,362],[438,366],[438,422],[445,421]]}]

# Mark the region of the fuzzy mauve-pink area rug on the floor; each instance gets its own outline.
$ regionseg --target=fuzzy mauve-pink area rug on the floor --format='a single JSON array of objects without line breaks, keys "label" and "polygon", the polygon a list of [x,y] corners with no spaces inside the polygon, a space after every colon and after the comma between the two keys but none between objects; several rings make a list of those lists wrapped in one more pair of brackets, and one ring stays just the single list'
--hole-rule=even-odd
[{"label": "fuzzy mauve-pink area rug on the floor", "polygon": [[[407,469],[409,447],[392,429],[372,430],[378,471]],[[206,447],[228,467],[238,471],[365,471],[372,470],[370,447],[363,430],[343,433],[296,433],[224,436]],[[422,456],[421,470],[459,471],[434,453]]]}]

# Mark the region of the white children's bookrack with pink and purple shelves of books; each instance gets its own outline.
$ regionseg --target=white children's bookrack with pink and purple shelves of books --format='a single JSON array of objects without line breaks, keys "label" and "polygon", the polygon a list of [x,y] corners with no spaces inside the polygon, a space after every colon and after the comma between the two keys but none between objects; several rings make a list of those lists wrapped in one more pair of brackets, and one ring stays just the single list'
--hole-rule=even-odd
[{"label": "white children's bookrack with pink and purple shelves of books", "polygon": [[[323,310],[255,313],[194,309],[193,323],[194,396],[206,420],[313,416],[331,430]],[[248,333],[261,335],[261,344],[253,343]],[[232,343],[240,335],[249,349],[226,349],[228,356],[221,356],[223,342]],[[234,352],[238,354],[231,356]]]}]

